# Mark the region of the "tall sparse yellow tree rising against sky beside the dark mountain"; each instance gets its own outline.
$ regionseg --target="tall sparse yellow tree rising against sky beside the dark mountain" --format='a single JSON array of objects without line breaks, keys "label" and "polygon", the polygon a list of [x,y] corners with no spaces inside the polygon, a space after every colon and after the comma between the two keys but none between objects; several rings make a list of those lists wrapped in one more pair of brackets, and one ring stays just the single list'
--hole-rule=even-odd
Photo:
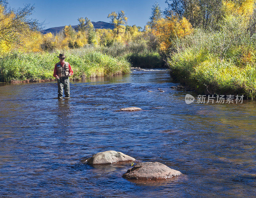
[{"label": "tall sparse yellow tree rising against sky beside the dark mountain", "polygon": [[115,11],[109,13],[108,18],[111,19],[110,23],[114,24],[115,26],[114,32],[116,33],[117,36],[119,33],[124,31],[125,29],[124,25],[127,24],[128,18],[125,16],[125,13],[123,10],[121,10],[121,12],[118,12],[118,13],[116,13]]}]

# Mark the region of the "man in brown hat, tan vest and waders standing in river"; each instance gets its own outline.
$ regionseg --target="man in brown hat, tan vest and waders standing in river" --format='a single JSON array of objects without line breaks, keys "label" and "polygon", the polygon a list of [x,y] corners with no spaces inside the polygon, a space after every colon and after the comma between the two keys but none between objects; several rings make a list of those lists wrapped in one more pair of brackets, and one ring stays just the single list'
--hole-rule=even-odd
[{"label": "man in brown hat, tan vest and waders standing in river", "polygon": [[73,75],[73,70],[68,62],[65,62],[67,58],[64,53],[57,56],[60,58],[60,62],[55,64],[53,77],[58,80],[58,99],[62,99],[63,89],[65,98],[69,98],[69,76]]}]

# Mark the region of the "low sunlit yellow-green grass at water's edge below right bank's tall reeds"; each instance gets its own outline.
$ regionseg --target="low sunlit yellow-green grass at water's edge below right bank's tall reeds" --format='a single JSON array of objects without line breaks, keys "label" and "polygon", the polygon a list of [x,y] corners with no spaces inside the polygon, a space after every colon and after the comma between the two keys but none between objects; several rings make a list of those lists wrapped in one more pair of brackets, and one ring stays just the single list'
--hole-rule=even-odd
[{"label": "low sunlit yellow-green grass at water's edge below right bank's tall reeds", "polygon": [[256,97],[254,62],[237,64],[234,57],[221,59],[209,51],[188,48],[175,54],[169,67],[177,80],[195,86],[199,92]]}]

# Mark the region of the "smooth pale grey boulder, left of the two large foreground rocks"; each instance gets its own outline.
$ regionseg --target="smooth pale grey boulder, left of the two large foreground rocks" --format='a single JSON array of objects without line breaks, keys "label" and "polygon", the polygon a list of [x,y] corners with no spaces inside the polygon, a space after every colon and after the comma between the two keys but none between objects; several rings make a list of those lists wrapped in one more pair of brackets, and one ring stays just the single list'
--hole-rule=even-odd
[{"label": "smooth pale grey boulder, left of the two large foreground rocks", "polygon": [[87,160],[87,164],[112,164],[115,162],[132,162],[135,161],[133,157],[116,151],[104,151],[92,155],[91,158]]}]

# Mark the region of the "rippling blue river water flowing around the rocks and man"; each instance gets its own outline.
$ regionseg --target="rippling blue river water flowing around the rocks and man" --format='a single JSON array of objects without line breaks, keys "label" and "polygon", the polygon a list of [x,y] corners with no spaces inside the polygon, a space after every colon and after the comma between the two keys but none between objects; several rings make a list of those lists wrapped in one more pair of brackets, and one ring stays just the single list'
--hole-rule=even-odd
[{"label": "rippling blue river water flowing around the rocks and man", "polygon": [[[166,70],[134,71],[72,82],[71,98],[58,100],[56,82],[2,84],[0,196],[254,196],[256,103],[186,104],[197,94],[177,85]],[[122,178],[130,163],[80,162],[106,150],[183,175],[136,182]]]}]

